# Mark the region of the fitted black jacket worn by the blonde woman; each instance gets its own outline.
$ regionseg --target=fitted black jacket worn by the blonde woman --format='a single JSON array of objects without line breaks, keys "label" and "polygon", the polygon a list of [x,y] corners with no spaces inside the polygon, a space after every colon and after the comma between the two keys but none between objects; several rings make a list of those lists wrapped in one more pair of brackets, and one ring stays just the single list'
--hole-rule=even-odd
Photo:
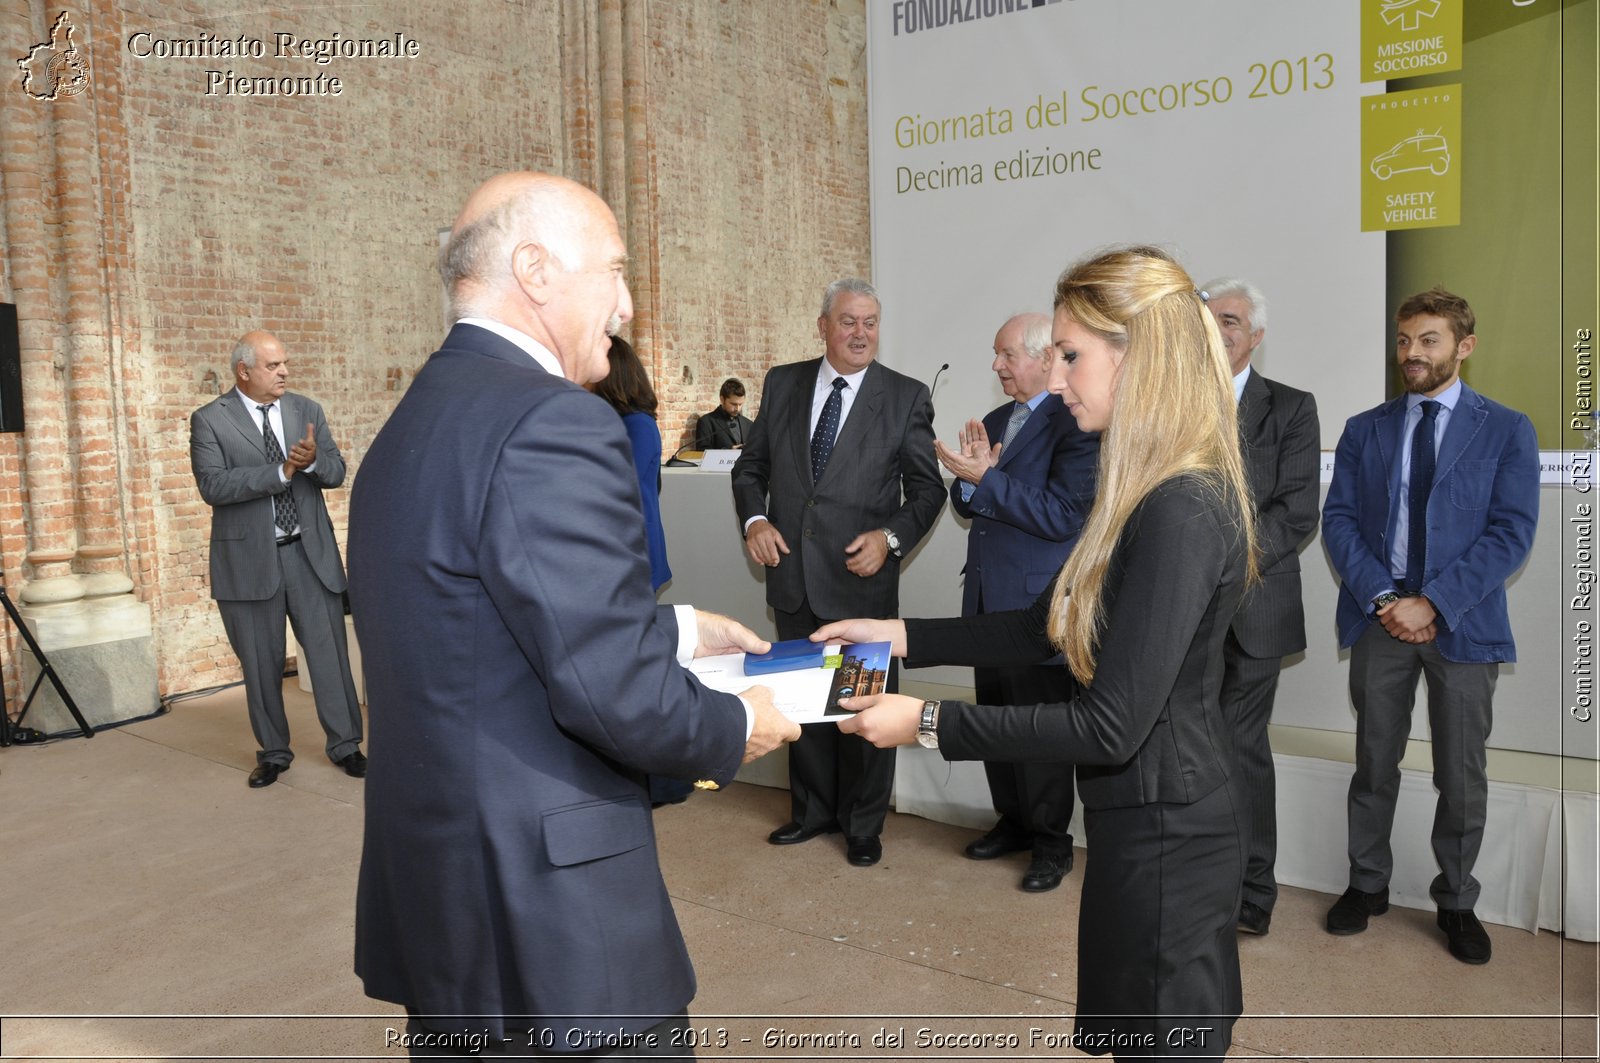
[{"label": "fitted black jacket worn by the blonde woman", "polygon": [[[1245,581],[1245,544],[1213,491],[1192,477],[1139,503],[1106,573],[1106,629],[1094,682],[1066,711],[946,701],[950,760],[1067,760],[1083,807],[1190,804],[1227,780],[1218,703],[1222,642]],[[1050,591],[1008,613],[907,620],[909,668],[1035,664],[1056,652]]]}]

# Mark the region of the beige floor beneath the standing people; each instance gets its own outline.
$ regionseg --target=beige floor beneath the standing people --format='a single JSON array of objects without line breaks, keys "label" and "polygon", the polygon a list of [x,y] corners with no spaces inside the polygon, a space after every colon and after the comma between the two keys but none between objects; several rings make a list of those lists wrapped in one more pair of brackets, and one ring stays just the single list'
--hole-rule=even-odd
[{"label": "beige floor beneath the standing people", "polygon": [[[301,756],[262,791],[238,690],[0,749],[0,1058],[403,1057],[397,1009],[350,973],[362,783],[322,756],[309,695],[285,698]],[[766,845],[786,818],[786,792],[746,784],[656,813],[702,1058],[1077,1055],[1083,850],[1029,895],[1026,853],[963,860],[971,831],[891,815],[862,869],[837,836]],[[1595,1058],[1594,945],[1490,927],[1494,961],[1467,967],[1432,913],[1333,938],[1331,900],[1288,889],[1240,943],[1234,1055]]]}]

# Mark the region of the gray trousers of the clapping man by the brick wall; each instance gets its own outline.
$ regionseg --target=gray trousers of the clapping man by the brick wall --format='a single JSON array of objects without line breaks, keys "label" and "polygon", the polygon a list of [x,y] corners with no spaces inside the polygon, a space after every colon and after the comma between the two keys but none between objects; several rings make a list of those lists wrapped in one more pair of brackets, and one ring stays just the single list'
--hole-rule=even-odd
[{"label": "gray trousers of the clapping man by the brick wall", "polygon": [[256,735],[259,764],[286,765],[290,722],[283,716],[283,618],[294,626],[310,672],[317,719],[328,735],[328,759],[341,760],[362,743],[362,706],[350,677],[350,653],[344,639],[344,597],[322,584],[301,543],[275,548],[283,572],[277,594],[256,602],[218,600],[222,629],[245,672],[245,704]]}]

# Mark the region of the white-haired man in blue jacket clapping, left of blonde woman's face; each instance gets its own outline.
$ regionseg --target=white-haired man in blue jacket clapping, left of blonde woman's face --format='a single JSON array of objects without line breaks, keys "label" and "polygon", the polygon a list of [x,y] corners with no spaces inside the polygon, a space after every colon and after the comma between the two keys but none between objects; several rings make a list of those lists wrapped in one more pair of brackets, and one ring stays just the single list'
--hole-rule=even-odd
[{"label": "white-haired man in blue jacket clapping, left of blonde woman's face", "polygon": [[[955,475],[950,504],[966,533],[962,615],[1027,608],[1051,584],[1094,504],[1099,432],[1083,432],[1050,383],[1050,317],[1018,314],[995,333],[994,371],[1011,402],[968,421],[960,453],[936,443]],[[990,443],[990,440],[995,440]],[[979,704],[1061,704],[1061,661],[974,668]],[[971,860],[1032,848],[1022,889],[1043,893],[1072,871],[1070,764],[986,760],[998,823],[966,847]]]}]

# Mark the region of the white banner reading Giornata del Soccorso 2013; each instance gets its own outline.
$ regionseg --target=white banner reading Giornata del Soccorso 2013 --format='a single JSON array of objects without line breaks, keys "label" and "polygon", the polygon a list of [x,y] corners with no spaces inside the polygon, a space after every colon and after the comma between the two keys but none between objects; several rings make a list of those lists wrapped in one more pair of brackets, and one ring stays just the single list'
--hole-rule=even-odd
[{"label": "white banner reading Giornata del Soccorso 2013", "polygon": [[[941,437],[1003,399],[995,330],[1050,311],[1061,271],[1110,243],[1261,285],[1258,367],[1317,394],[1323,447],[1382,397],[1384,237],[1365,232],[1357,166],[1414,131],[1362,141],[1384,85],[1363,83],[1354,5],[874,0],[867,18],[883,359],[925,381],[950,363]],[[1419,183],[1402,165],[1397,194]]]}]

